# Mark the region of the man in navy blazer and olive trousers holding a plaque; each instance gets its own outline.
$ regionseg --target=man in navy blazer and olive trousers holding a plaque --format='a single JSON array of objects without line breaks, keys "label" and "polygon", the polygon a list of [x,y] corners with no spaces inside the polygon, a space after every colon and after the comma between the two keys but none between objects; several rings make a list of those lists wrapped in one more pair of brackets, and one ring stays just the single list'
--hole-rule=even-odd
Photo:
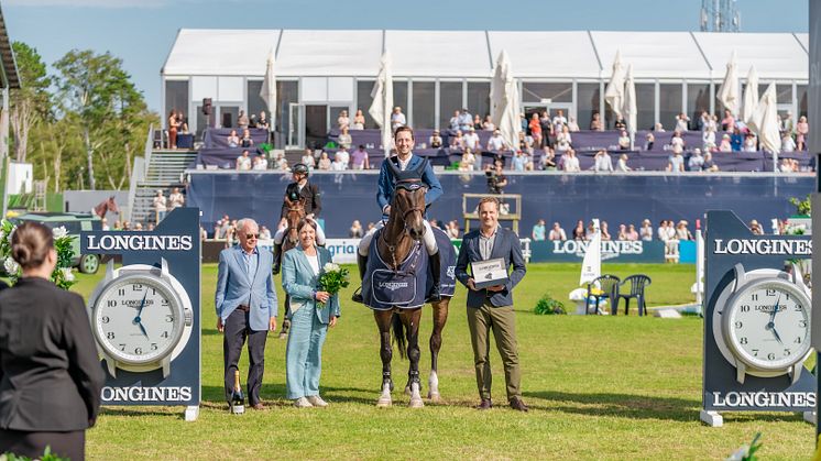
[{"label": "man in navy blazer and olive trousers holding a plaque", "polygon": [[[524,278],[526,271],[522,245],[515,232],[499,226],[499,200],[495,198],[480,200],[479,219],[479,230],[462,238],[456,263],[456,277],[468,287],[468,327],[481,398],[477,408],[493,406],[489,343],[489,333],[493,330],[504,365],[507,400],[513,409],[527,411],[519,387],[522,375],[513,311],[513,287]],[[508,274],[511,265],[513,272]]]}]

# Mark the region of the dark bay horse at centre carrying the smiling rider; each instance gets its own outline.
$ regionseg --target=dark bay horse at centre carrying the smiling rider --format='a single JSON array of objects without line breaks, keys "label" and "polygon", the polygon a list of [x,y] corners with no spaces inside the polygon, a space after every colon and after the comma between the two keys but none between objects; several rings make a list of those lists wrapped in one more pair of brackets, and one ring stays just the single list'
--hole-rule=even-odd
[{"label": "dark bay horse at centre carrying the smiling rider", "polygon": [[[427,267],[422,267],[420,264],[417,265],[413,261],[414,257],[419,257],[423,253],[427,256],[426,250],[420,242],[426,232],[424,222],[425,191],[426,188],[419,179],[397,180],[391,200],[388,221],[374,235],[379,259],[394,274],[401,274],[403,271],[406,271],[408,262],[412,267],[410,272],[414,272],[417,266],[419,270],[427,270]],[[449,240],[447,244],[450,245]],[[442,249],[441,244],[439,246],[439,253],[435,257],[446,257],[446,261],[441,264],[445,267],[455,265],[456,256],[452,248]],[[372,260],[369,259],[369,261]],[[424,260],[425,257],[423,257]],[[371,267],[369,267],[369,275],[365,279],[373,282],[371,273]],[[410,276],[415,276],[415,273],[410,274]],[[427,292],[431,284],[433,282],[424,289]],[[365,288],[363,285],[363,290],[365,289],[370,289],[370,287]],[[439,350],[441,348],[441,332],[447,322],[450,297],[452,297],[452,293],[446,294],[439,300],[431,303],[434,307],[434,331],[430,336],[431,372],[428,380],[428,398],[433,402],[440,399],[437,366]],[[410,362],[407,386],[405,388],[410,395],[408,406],[412,408],[424,407],[424,402],[420,397],[420,351],[418,344],[422,306],[409,308],[393,307],[391,309],[376,309],[372,307],[372,309],[380,330],[380,358],[382,359],[382,394],[376,402],[376,406],[386,407],[393,403],[391,397],[391,392],[393,391],[393,380],[391,377],[391,360],[393,358],[391,327],[393,327],[393,337],[398,345],[399,356],[407,356]]]}]

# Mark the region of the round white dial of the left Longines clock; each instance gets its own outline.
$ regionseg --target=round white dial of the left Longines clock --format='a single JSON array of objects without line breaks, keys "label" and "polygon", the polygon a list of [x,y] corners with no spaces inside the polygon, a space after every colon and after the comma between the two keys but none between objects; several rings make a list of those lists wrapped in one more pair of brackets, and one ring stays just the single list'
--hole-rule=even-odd
[{"label": "round white dial of the left Longines clock", "polygon": [[118,361],[142,364],[169,354],[182,336],[183,310],[173,290],[146,276],[118,278],[100,294],[95,333]]}]

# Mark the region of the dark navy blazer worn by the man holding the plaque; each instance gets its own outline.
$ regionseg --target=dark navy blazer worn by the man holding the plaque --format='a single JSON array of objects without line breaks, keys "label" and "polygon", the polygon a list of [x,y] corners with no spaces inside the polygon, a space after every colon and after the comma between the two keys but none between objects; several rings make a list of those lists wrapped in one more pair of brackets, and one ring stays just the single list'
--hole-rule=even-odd
[{"label": "dark navy blazer worn by the man holding the plaque", "polygon": [[[478,292],[468,288],[468,307],[481,307],[489,293],[493,293],[490,297],[493,306],[513,305],[513,287],[522,282],[525,272],[527,272],[525,257],[522,255],[522,243],[515,232],[502,227],[499,228],[496,240],[493,241],[493,251],[491,251],[490,259],[494,260],[496,257],[504,257],[510,274],[505,289],[493,293],[484,288]],[[468,286],[468,278],[472,277],[472,275],[468,274],[468,265],[473,261],[482,261],[482,253],[479,251],[478,229],[462,237],[462,245],[459,248],[459,259],[456,262],[456,277],[466,287]],[[513,265],[513,272],[510,272],[511,265]]]}]

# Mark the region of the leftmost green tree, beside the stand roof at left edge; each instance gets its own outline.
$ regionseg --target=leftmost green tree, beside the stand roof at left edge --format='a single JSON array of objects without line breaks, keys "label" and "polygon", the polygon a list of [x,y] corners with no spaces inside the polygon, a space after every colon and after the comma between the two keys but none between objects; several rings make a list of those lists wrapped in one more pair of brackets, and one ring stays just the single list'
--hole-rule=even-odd
[{"label": "leftmost green tree, beside the stand roof at left edge", "polygon": [[51,119],[52,97],[48,87],[52,78],[36,48],[23,42],[12,45],[18,64],[21,88],[11,90],[9,121],[14,138],[14,156],[25,162],[29,152],[29,133],[37,124]]}]

